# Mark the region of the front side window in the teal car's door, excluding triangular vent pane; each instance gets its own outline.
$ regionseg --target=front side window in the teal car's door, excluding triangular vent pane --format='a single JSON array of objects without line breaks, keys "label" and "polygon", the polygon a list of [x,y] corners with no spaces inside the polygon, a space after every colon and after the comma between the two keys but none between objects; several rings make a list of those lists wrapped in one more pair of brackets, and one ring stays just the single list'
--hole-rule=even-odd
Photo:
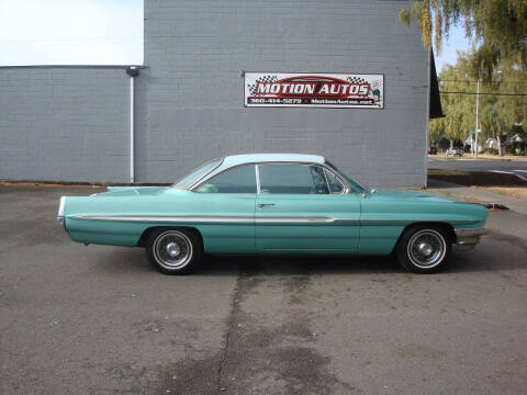
[{"label": "front side window in the teal car's door, excluding triangular vent pane", "polygon": [[307,165],[259,165],[260,193],[329,193],[324,170]]}]

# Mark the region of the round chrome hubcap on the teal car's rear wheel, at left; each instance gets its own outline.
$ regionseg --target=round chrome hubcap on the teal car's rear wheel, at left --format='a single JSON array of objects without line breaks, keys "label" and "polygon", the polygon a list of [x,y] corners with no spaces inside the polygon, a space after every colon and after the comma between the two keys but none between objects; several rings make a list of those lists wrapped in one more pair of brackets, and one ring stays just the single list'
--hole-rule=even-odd
[{"label": "round chrome hubcap on the teal car's rear wheel, at left", "polygon": [[164,268],[181,269],[192,258],[192,244],[184,234],[167,230],[156,238],[154,256]]}]

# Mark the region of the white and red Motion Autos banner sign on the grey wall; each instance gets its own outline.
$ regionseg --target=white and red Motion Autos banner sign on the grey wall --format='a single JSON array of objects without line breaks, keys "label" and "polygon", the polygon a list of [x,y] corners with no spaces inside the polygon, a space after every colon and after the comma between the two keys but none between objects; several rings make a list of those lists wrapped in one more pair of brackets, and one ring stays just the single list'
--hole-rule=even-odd
[{"label": "white and red Motion Autos banner sign on the grey wall", "polygon": [[383,109],[383,75],[246,72],[246,106]]}]

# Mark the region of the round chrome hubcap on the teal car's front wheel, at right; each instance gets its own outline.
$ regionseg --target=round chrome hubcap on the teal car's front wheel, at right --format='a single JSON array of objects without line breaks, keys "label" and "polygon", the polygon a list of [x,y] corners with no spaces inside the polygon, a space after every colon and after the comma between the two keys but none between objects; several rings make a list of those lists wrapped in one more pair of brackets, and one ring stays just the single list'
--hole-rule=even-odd
[{"label": "round chrome hubcap on the teal car's front wheel, at right", "polygon": [[447,244],[442,235],[433,229],[416,232],[410,239],[407,252],[410,260],[419,268],[430,269],[445,258]]}]

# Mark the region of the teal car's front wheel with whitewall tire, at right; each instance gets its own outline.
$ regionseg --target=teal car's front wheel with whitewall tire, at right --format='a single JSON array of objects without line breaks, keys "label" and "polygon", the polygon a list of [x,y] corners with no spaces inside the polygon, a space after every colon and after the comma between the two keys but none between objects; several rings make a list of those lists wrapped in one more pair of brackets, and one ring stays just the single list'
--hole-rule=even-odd
[{"label": "teal car's front wheel with whitewall tire, at right", "polygon": [[450,238],[438,226],[410,227],[396,246],[399,262],[408,271],[425,274],[444,269],[450,251]]}]

